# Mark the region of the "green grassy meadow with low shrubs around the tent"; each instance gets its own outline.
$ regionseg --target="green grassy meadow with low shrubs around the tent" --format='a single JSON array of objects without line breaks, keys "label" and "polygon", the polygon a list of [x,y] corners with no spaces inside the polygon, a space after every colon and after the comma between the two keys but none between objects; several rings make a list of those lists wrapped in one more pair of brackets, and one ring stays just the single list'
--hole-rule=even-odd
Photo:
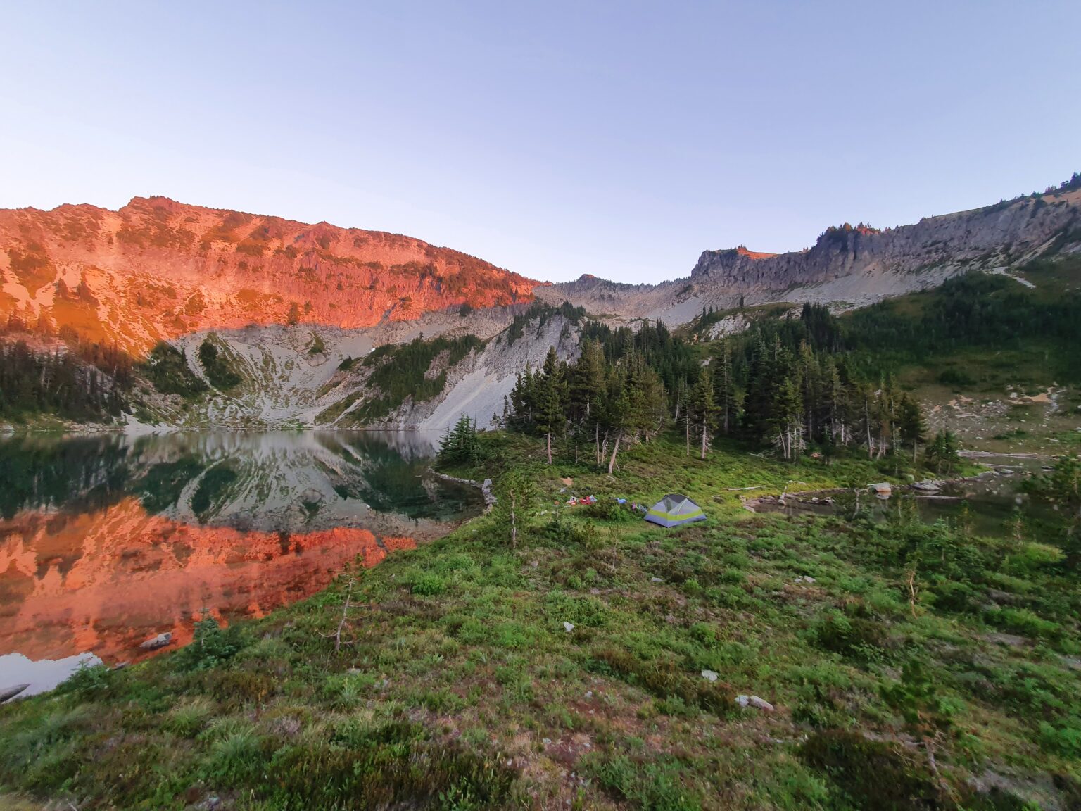
[{"label": "green grassy meadow with low shrubs around the tent", "polygon": [[[208,623],[188,648],[0,707],[6,801],[1081,803],[1079,555],[1065,533],[739,502],[925,475],[893,458],[792,465],[721,447],[702,462],[672,436],[629,448],[608,477],[549,467],[521,436],[481,441],[478,468],[449,473],[516,469],[539,491],[515,547],[498,515],[477,518],[264,620]],[[665,530],[612,498],[671,491],[709,520]],[[570,492],[600,502],[556,506]]]}]

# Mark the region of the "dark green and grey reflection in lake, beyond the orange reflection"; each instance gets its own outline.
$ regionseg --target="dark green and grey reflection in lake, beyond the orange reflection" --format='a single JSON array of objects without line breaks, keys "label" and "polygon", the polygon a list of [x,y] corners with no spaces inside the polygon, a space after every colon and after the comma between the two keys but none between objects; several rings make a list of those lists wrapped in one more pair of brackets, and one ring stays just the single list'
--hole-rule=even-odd
[{"label": "dark green and grey reflection in lake, beyond the orange reflection", "polygon": [[425,478],[426,438],[364,433],[165,434],[0,441],[0,515],[85,510],[126,494],[179,521],[264,531],[445,520],[477,503]]}]

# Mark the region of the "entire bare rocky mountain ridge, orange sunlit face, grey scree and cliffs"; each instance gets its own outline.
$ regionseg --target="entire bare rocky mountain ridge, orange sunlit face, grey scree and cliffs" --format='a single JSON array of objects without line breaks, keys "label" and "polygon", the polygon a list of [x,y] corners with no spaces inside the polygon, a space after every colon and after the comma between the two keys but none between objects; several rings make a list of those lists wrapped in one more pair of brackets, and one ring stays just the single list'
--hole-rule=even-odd
[{"label": "entire bare rocky mountain ridge, orange sunlit face, grey scree and cliffs", "polygon": [[[1035,257],[1078,252],[1078,175],[1042,195],[915,225],[829,228],[804,251],[706,251],[690,277],[639,285],[591,276],[538,284],[409,237],[136,198],[118,212],[0,211],[0,319],[22,319],[26,334],[32,324],[70,328],[136,356],[170,341],[205,391],[168,396],[143,385],[136,423],[442,430],[459,413],[481,425],[502,413],[516,373],[539,364],[549,345],[576,354],[575,325],[551,313],[518,323],[519,340],[509,340],[522,302],[534,297],[613,321],[680,324],[704,307],[739,303],[857,307],[966,270],[1016,275]],[[744,327],[733,317],[715,334]],[[425,356],[427,365],[413,370],[436,394],[399,393],[387,408],[371,408],[379,393],[362,360],[421,336],[475,336],[476,345],[453,359]],[[208,345],[236,377],[229,385],[206,368]]]}]

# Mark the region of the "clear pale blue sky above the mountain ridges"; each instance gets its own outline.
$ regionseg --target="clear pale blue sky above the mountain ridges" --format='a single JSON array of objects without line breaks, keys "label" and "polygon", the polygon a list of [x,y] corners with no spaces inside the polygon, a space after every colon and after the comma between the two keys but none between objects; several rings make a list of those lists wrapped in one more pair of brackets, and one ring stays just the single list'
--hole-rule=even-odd
[{"label": "clear pale blue sky above the mountain ridges", "polygon": [[0,208],[133,196],[685,276],[1081,170],[1081,2],[5,4]]}]

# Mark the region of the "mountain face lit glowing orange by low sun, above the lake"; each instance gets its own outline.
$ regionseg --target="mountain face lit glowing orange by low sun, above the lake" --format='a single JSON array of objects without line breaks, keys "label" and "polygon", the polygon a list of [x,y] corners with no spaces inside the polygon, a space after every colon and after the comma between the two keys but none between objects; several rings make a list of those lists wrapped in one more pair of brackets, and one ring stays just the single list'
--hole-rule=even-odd
[{"label": "mountain face lit glowing orange by low sun, above the lake", "polygon": [[529,301],[537,282],[383,231],[134,198],[0,210],[0,318],[44,316],[135,351],[210,329],[342,328]]}]

